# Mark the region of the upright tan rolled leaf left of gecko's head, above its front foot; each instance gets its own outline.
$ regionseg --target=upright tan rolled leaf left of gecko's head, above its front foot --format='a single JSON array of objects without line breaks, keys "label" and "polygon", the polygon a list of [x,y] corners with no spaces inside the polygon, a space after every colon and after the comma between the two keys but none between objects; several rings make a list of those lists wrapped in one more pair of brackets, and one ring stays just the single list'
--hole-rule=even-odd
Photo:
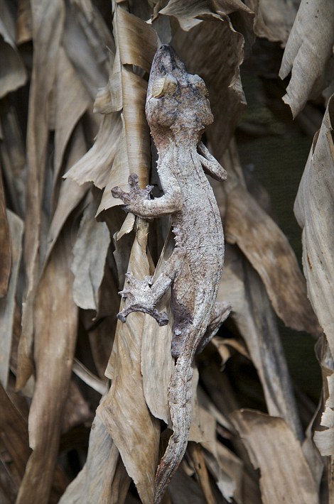
[{"label": "upright tan rolled leaf left of gecko's head, above its front foot", "polygon": [[[139,183],[144,187],[148,182],[151,166],[149,126],[146,122],[144,106],[146,102],[147,82],[139,75],[128,70],[129,65],[144,67],[149,71],[151,58],[156,50],[156,34],[144,21],[135,18],[113,3],[114,36],[117,53],[114,60],[113,80],[117,92],[112,99],[113,109],[121,111],[122,133],[117,147],[109,180],[104,190],[98,212],[120,204],[111,194],[114,186],[128,189],[130,173],[139,175]],[[136,26],[136,32],[134,32]],[[141,31],[141,45],[146,47],[146,56],[142,56],[138,45],[138,33]],[[117,106],[116,106],[117,105]]]}]

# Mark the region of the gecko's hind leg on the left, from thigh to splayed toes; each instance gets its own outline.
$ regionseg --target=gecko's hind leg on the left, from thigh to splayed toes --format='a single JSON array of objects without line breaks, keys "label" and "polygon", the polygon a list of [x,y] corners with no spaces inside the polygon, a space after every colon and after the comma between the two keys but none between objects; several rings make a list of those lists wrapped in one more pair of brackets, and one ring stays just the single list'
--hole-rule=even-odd
[{"label": "gecko's hind leg on the left, from thigh to splayed toes", "polygon": [[168,287],[173,282],[178,271],[182,267],[186,252],[183,248],[175,248],[171,257],[166,261],[163,271],[156,280],[146,276],[143,280],[137,280],[132,273],[126,273],[126,286],[119,292],[125,300],[125,307],[117,314],[117,318],[125,322],[131,312],[144,312],[158,322],[159,326],[168,324],[166,312],[158,312],[156,303],[163,297]]}]

